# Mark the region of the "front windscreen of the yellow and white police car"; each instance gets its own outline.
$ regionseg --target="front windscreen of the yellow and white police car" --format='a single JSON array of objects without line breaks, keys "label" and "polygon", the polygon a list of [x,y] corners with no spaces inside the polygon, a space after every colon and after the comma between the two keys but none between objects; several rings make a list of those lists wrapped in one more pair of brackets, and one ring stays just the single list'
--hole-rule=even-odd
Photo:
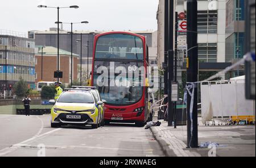
[{"label": "front windscreen of the yellow and white police car", "polygon": [[60,95],[58,103],[94,103],[90,93],[66,92]]}]

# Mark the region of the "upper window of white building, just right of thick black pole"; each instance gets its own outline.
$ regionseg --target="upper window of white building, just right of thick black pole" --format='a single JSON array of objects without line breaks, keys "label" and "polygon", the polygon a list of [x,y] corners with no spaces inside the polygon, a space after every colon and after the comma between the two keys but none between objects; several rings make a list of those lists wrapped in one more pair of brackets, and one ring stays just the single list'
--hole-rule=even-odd
[{"label": "upper window of white building, just right of thick black pole", "polygon": [[217,33],[218,11],[198,11],[197,30],[198,33]]}]

